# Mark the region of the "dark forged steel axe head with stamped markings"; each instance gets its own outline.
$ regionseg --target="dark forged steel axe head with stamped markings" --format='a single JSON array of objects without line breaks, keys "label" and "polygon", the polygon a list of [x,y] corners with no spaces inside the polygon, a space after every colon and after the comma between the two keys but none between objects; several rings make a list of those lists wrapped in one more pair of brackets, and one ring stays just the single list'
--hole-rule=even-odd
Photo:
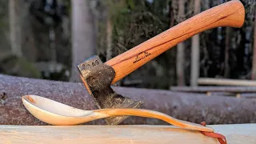
[{"label": "dark forged steel axe head with stamped markings", "polygon": [[[82,82],[99,109],[138,108],[142,105],[142,102],[117,94],[111,88],[110,85],[114,79],[115,71],[111,66],[102,63],[98,56],[80,63],[78,70],[81,73]],[[128,116],[116,116],[105,118],[105,120],[108,125],[118,125],[126,118]]]}]

